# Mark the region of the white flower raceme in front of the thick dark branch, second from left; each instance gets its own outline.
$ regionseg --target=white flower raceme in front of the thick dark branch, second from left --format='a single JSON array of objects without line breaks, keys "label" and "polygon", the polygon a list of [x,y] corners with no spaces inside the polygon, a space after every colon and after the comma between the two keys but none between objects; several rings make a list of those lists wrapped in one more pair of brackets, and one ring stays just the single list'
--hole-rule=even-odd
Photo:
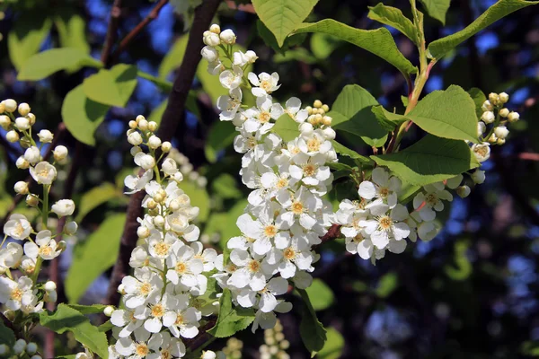
[{"label": "white flower raceme in front of the thick dark branch, second from left", "polygon": [[140,244],[129,261],[134,275],[119,285],[125,308],[108,313],[118,338],[110,358],[181,357],[186,353],[182,338],[197,336],[199,321],[216,310],[212,302],[199,299],[206,293],[205,274],[215,267],[216,251],[204,250],[198,241],[199,227],[192,222],[199,208],[181,190],[178,163],[165,157],[172,145],[162,142],[155,122],[142,116],[129,127],[139,173],[128,176],[125,185],[128,193],[145,191],[146,214],[138,218]]}]

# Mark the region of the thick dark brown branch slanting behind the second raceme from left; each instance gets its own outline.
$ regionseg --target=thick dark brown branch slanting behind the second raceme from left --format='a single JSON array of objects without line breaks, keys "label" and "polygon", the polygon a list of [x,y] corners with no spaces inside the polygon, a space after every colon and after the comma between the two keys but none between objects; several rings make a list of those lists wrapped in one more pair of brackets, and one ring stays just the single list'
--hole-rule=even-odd
[{"label": "thick dark brown branch slanting behind the second raceme from left", "polygon": [[[195,17],[193,26],[190,30],[189,40],[185,51],[186,56],[181,62],[178,76],[172,85],[172,92],[169,95],[169,100],[166,109],[163,113],[161,127],[157,135],[163,141],[168,141],[176,131],[178,124],[185,116],[185,102],[190,91],[190,85],[193,82],[197,66],[200,62],[200,49],[202,48],[202,34],[208,30],[217,7],[221,0],[204,0],[195,9]],[[140,191],[131,196],[128,205],[128,217],[124,226],[124,232],[119,243],[119,258],[110,276],[109,290],[106,298],[103,300],[106,304],[116,305],[119,303],[120,294],[118,293],[118,285],[124,276],[129,273],[129,258],[131,251],[137,245],[137,217],[143,215],[142,199],[144,192]]]}]

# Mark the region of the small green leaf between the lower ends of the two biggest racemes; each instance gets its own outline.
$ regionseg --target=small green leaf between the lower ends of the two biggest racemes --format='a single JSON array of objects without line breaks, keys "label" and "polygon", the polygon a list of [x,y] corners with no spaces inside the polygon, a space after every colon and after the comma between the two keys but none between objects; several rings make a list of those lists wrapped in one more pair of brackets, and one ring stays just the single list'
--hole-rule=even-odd
[{"label": "small green leaf between the lower ends of the two biggest racemes", "polygon": [[254,320],[252,308],[233,307],[232,294],[229,289],[223,291],[219,304],[216,325],[208,330],[208,333],[214,337],[234,336],[236,332],[249,327]]}]

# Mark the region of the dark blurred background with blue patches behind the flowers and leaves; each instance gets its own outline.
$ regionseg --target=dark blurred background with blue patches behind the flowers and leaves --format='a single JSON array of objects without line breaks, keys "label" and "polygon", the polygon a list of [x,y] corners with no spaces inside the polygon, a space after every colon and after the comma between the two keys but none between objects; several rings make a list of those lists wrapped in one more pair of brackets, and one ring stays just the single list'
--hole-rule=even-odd
[{"label": "dark blurred background with blue patches behind the flowers and leaves", "polygon": [[[106,0],[40,0],[10,3],[0,22],[0,98],[13,98],[31,104],[38,116],[39,128],[56,128],[62,120],[60,109],[66,93],[94,70],[74,74],[60,72],[37,83],[18,82],[8,56],[7,36],[21,22],[39,22],[65,12],[80,15],[85,22],[84,35],[91,54],[99,58],[111,2]],[[119,39],[140,22],[155,4],[133,0],[124,2],[119,19]],[[379,25],[367,19],[367,5],[376,1],[321,0],[309,21],[332,18],[362,29]],[[446,26],[426,18],[427,41],[458,31],[473,21],[494,1],[454,0],[447,13]],[[387,1],[410,16],[404,0]],[[249,10],[249,8],[247,8]],[[40,20],[41,19],[41,20]],[[305,103],[320,99],[331,104],[348,83],[367,88],[386,109],[402,109],[401,96],[407,93],[406,81],[383,60],[344,43],[330,41],[329,56],[321,55],[324,46],[307,37],[276,55],[257,33],[257,16],[249,11],[231,10],[225,4],[218,13],[222,28],[230,27],[238,41],[254,49],[261,57],[255,69],[277,71],[283,83],[276,93],[279,100],[297,96]],[[142,31],[124,51],[119,61],[137,65],[142,71],[157,74],[164,55],[184,33],[185,19],[173,13],[171,4]],[[392,30],[402,53],[417,62],[411,41]],[[56,30],[50,32],[41,49],[59,45]],[[347,358],[517,358],[539,355],[539,302],[537,261],[539,259],[539,12],[530,6],[503,19],[464,43],[451,56],[434,67],[427,92],[444,89],[452,83],[468,90],[508,92],[509,108],[520,112],[521,120],[510,127],[508,144],[496,147],[483,164],[487,181],[465,199],[456,198],[443,213],[445,227],[429,242],[409,246],[402,255],[388,254],[373,267],[360,258],[347,256],[340,241],[327,244],[314,276],[331,287],[333,300],[318,317],[326,327],[337,329],[345,338],[341,357]],[[172,74],[169,79],[172,79]],[[216,179],[229,173],[237,191],[247,192],[237,178],[240,156],[229,145],[221,150],[216,163],[209,163],[205,145],[216,126],[216,110],[198,79],[199,116],[190,112],[173,136],[175,144],[195,168],[208,178],[212,210],[227,214],[239,196],[223,195],[214,186]],[[79,175],[75,197],[103,182],[115,183],[132,167],[125,141],[128,120],[137,114],[148,116],[167,94],[147,80],[139,80],[137,90],[125,109],[111,109],[99,127],[97,146],[79,146],[75,161]],[[2,133],[4,136],[4,132]],[[215,135],[215,134],[214,134]],[[403,144],[420,136],[413,130]],[[341,139],[359,153],[371,154],[367,145],[356,139]],[[75,151],[75,139],[65,136]],[[11,203],[13,183],[24,174],[14,166],[18,149],[2,143],[3,184],[0,215]],[[233,182],[234,183],[234,182]],[[57,194],[57,196],[59,196]],[[93,232],[111,212],[125,210],[125,198],[116,198],[93,210],[84,218],[84,232]],[[231,220],[229,225],[232,225]],[[206,225],[208,227],[208,223]],[[204,226],[203,226],[204,227]],[[206,229],[211,233],[210,229]],[[67,256],[68,257],[68,256]],[[64,269],[69,258],[64,260]],[[108,272],[86,293],[83,302],[99,301],[106,291]],[[299,308],[299,299],[291,296]],[[294,358],[307,357],[298,334],[299,314],[293,311],[281,317],[288,353]],[[261,333],[243,331],[237,336],[244,342],[243,357],[256,357],[263,342]],[[60,339],[58,339],[60,340]],[[535,345],[536,344],[536,345]],[[217,341],[212,348],[223,346]],[[535,349],[535,347],[537,347]]]}]

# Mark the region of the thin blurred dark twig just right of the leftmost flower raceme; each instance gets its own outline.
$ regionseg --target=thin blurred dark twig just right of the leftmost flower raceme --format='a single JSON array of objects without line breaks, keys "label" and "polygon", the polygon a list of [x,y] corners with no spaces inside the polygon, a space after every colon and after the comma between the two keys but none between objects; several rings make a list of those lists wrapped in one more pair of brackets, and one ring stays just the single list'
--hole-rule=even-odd
[{"label": "thin blurred dark twig just right of the leftmost flower raceme", "polygon": [[[71,170],[69,170],[69,174],[67,175],[66,182],[64,184],[64,198],[71,198],[73,196],[74,188],[75,188],[75,180],[76,175],[78,172],[78,169],[80,167],[81,162],[81,153],[83,151],[83,144],[80,142],[76,142],[75,147],[75,156],[73,157],[73,161],[71,163]],[[66,216],[60,218],[57,223],[57,237],[55,238],[55,241],[62,241],[62,232],[64,231],[64,226],[66,225]],[[59,265],[59,256],[57,258],[54,258],[51,260],[49,265],[49,279],[57,284],[57,299],[58,302],[64,302],[62,301],[62,298],[64,297],[64,282],[62,281],[62,277],[59,276],[58,273],[58,265]],[[54,302],[48,302],[47,303],[47,309],[49,311],[54,311],[56,305]],[[52,330],[48,330],[45,335],[45,357],[46,358],[54,358],[54,337],[55,332]]]}]

